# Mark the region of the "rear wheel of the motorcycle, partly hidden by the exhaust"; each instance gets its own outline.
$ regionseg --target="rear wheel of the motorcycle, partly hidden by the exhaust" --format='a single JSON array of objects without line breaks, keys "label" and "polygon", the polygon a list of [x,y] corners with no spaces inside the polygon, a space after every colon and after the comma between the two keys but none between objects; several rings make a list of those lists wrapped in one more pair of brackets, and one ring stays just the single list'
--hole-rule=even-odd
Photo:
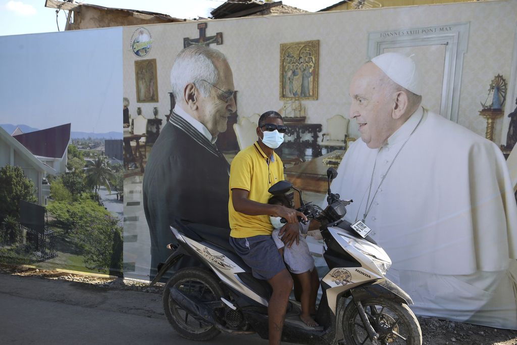
[{"label": "rear wheel of the motorcycle, partly hidden by the exhaust", "polygon": [[184,268],[176,272],[165,284],[163,311],[175,331],[186,339],[205,341],[221,333],[216,326],[202,321],[199,316],[194,317],[178,306],[171,297],[171,288],[176,288],[187,296],[195,296],[203,302],[221,301],[223,290],[214,274],[200,268]]}]

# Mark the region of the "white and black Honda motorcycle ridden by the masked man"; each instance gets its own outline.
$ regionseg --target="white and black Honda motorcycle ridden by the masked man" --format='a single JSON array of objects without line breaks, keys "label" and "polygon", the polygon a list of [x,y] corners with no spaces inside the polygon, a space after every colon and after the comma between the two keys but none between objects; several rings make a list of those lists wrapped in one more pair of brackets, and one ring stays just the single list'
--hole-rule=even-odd
[{"label": "white and black Honda motorcycle ridden by the masked man", "polygon": [[[412,299],[385,278],[391,260],[368,236],[362,222],[342,219],[352,200],[340,200],[330,190],[337,171],[329,168],[328,206],[303,203],[298,211],[320,222],[323,257],[329,272],[321,279],[322,297],[316,322],[310,327],[298,315],[301,307],[290,299],[282,341],[300,344],[421,344],[422,332],[408,304]],[[287,181],[271,186],[271,194],[292,189]],[[285,220],[284,220],[285,221]],[[359,223],[359,224],[358,224]],[[192,256],[205,268],[175,272],[163,291],[163,309],[172,327],[187,339],[209,340],[221,332],[257,333],[268,338],[267,305],[271,287],[256,279],[251,268],[233,251],[230,230],[188,221],[176,221],[171,230],[178,245],[169,245],[171,256],[158,267],[153,286],[183,256]],[[264,258],[267,260],[267,258]]]}]

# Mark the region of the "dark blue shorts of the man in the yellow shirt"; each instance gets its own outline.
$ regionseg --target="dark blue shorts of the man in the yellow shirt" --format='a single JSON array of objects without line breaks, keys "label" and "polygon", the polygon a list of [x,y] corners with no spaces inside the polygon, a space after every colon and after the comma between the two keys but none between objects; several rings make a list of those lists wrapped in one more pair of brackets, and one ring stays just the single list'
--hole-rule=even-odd
[{"label": "dark blue shorts of the man in the yellow shirt", "polygon": [[270,235],[230,237],[230,245],[251,267],[251,274],[257,279],[269,280],[282,269],[286,269],[284,260]]}]

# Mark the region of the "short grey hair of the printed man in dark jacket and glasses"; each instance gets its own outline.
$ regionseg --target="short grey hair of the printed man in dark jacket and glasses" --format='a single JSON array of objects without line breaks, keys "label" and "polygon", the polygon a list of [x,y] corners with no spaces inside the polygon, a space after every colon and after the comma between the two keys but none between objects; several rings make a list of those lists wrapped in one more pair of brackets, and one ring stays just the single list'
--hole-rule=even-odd
[{"label": "short grey hair of the printed man in dark jacket and glasses", "polygon": [[174,99],[182,99],[185,85],[193,83],[201,95],[210,95],[210,85],[200,83],[202,79],[216,84],[218,71],[214,61],[226,62],[226,56],[216,49],[204,46],[190,46],[179,52],[171,69],[171,85]]}]

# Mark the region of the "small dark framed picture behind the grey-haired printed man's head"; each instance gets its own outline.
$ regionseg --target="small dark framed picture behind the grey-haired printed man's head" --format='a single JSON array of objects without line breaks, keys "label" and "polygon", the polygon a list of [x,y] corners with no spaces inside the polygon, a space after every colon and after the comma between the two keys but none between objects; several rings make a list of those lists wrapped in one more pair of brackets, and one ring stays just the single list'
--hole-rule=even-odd
[{"label": "small dark framed picture behind the grey-haired printed man's head", "polygon": [[135,61],[134,76],[136,82],[136,101],[139,103],[158,102],[156,59]]}]

